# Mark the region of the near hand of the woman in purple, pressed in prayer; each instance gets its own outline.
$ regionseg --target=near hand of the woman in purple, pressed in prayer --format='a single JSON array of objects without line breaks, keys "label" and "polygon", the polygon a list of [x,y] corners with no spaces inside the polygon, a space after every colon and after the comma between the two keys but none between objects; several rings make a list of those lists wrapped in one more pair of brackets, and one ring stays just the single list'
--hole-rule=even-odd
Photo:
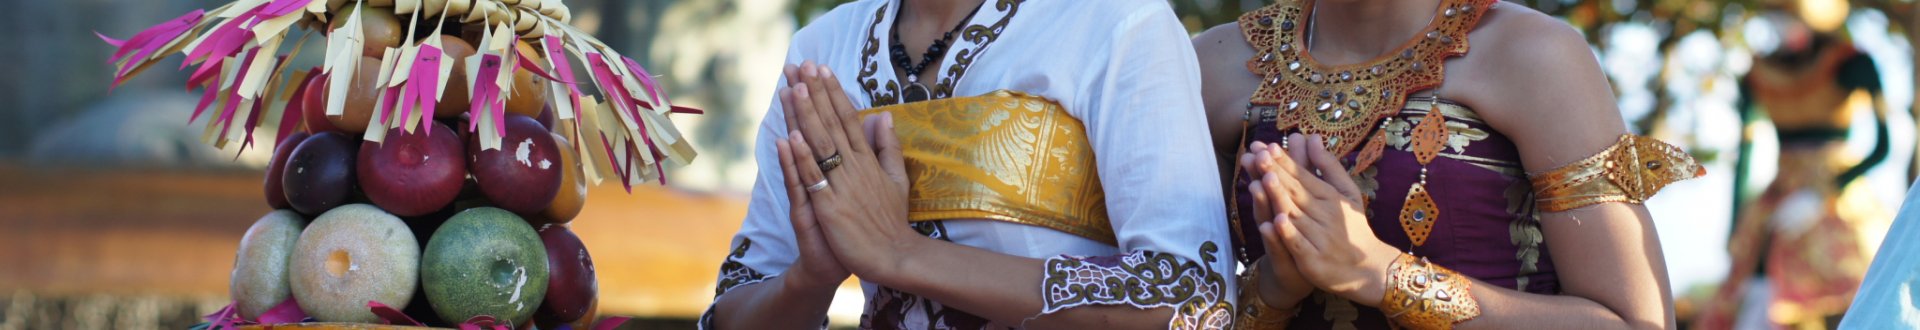
[{"label": "near hand of the woman in purple, pressed in prayer", "polygon": [[1327,152],[1321,136],[1288,138],[1286,153],[1263,155],[1277,163],[1277,171],[1269,171],[1256,184],[1273,196],[1269,198],[1273,209],[1286,211],[1275,215],[1271,223],[1261,223],[1260,234],[1284,242],[1300,272],[1313,286],[1361,305],[1380,305],[1380,295],[1386,294],[1386,267],[1402,251],[1373,236],[1367,213],[1359,209],[1359,186]]}]

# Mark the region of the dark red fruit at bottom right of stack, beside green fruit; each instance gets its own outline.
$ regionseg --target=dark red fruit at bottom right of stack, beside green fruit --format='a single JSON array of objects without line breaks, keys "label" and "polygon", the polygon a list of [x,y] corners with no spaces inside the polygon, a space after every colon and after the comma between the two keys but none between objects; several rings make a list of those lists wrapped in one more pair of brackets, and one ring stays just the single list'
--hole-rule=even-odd
[{"label": "dark red fruit at bottom right of stack, beside green fruit", "polygon": [[534,317],[541,322],[580,320],[599,297],[588,246],[564,224],[540,226],[540,242],[547,246],[547,299]]}]

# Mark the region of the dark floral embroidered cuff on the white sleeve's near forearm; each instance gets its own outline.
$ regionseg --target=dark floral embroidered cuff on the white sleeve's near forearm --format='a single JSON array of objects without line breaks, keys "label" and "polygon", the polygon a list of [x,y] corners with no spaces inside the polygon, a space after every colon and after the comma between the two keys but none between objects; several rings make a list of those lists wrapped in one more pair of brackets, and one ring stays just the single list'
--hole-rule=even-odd
[{"label": "dark floral embroidered cuff on the white sleeve's near forearm", "polygon": [[1213,242],[1202,244],[1198,263],[1158,251],[1050,257],[1041,313],[1083,305],[1175,307],[1167,328],[1225,326],[1233,318],[1233,305],[1223,299],[1227,280],[1208,267],[1217,251]]}]

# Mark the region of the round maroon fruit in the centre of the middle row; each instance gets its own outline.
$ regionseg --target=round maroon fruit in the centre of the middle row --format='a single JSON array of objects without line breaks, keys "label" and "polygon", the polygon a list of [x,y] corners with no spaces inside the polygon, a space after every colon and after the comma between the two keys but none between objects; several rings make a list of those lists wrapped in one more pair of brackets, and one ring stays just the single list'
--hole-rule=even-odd
[{"label": "round maroon fruit in the centre of the middle row", "polygon": [[407,132],[390,129],[386,142],[361,142],[359,184],[367,200],[399,217],[440,211],[467,180],[467,148],[447,125]]}]

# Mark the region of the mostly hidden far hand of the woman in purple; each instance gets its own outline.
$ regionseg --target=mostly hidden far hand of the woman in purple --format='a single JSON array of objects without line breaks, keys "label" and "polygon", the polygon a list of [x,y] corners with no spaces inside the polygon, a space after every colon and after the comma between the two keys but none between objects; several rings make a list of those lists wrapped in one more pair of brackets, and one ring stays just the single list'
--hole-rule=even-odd
[{"label": "mostly hidden far hand of the woman in purple", "polygon": [[[1267,171],[1279,171],[1275,169],[1279,163],[1273,161],[1273,155],[1279,152],[1283,152],[1279,144],[1254,142],[1246,148],[1246,153],[1240,155],[1240,167],[1246,169],[1246,175],[1256,178],[1252,182],[1254,186],[1248,186],[1246,190],[1254,196],[1254,217],[1261,219],[1261,226],[1271,226],[1275,209],[1292,207],[1292,203],[1279,201],[1258,186],[1263,184],[1258,178],[1265,177]],[[1300,267],[1294,265],[1294,257],[1286,251],[1284,242],[1273,242],[1261,236],[1261,244],[1267,248],[1267,255],[1261,255],[1260,261],[1256,261],[1256,267],[1267,269],[1261,269],[1258,272],[1260,278],[1254,278],[1256,288],[1260,288],[1260,301],[1265,301],[1267,307],[1281,311],[1298,307],[1302,299],[1313,294],[1313,284],[1300,274]]]}]

